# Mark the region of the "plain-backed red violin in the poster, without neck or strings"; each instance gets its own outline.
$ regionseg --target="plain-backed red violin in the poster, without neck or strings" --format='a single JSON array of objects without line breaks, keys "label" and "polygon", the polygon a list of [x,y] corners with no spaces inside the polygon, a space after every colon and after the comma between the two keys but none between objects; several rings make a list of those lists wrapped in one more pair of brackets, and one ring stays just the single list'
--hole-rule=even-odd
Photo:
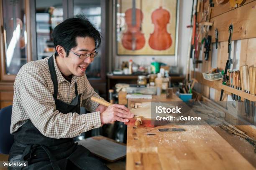
[{"label": "plain-backed red violin in the poster, without neck or strings", "polygon": [[167,32],[167,24],[170,20],[170,13],[161,6],[154,10],[151,15],[154,24],[154,32],[150,34],[148,44],[154,50],[166,50],[172,45],[171,34]]}]

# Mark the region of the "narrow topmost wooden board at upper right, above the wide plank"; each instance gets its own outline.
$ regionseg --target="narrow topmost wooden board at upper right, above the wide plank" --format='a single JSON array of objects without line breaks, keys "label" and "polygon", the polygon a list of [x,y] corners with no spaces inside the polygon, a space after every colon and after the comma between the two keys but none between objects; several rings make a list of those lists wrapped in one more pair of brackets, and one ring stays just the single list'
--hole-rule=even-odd
[{"label": "narrow topmost wooden board at upper right, above the wide plank", "polygon": [[[247,3],[252,2],[252,1],[255,1],[255,0],[246,0],[246,2],[244,2],[243,5],[246,5]],[[235,10],[235,9],[236,9],[236,8],[232,8],[232,7],[230,6],[230,3],[229,3],[229,2],[227,2],[227,3],[225,3],[225,4],[220,4],[220,5],[218,5],[218,4],[216,3],[216,0],[214,0],[213,2],[214,2],[214,7],[213,7],[213,9],[212,9],[211,18],[216,17],[216,16],[218,16],[218,15],[221,15],[221,14],[223,14],[223,13],[227,13],[227,12],[229,12],[230,10]],[[242,6],[243,6],[243,5],[242,5]]]}]

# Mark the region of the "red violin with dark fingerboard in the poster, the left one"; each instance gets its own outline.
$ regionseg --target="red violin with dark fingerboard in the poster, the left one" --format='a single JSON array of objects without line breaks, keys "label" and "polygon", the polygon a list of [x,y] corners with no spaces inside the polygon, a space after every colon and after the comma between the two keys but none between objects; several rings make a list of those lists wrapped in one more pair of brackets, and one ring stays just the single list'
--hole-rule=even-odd
[{"label": "red violin with dark fingerboard in the poster, the left one", "polygon": [[133,1],[133,7],[125,11],[127,31],[123,33],[122,44],[127,50],[140,50],[145,45],[145,37],[141,33],[143,13],[135,7]]}]

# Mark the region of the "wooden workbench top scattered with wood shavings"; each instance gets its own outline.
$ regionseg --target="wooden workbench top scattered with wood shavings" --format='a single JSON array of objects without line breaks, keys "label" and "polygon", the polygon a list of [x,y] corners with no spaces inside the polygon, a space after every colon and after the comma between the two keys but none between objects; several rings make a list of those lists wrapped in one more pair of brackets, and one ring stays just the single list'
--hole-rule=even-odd
[{"label": "wooden workbench top scattered with wood shavings", "polygon": [[[154,96],[152,100],[167,101],[165,95]],[[181,100],[174,95],[168,101]],[[128,107],[131,102],[138,100],[128,100]],[[184,128],[185,131],[159,132],[160,128]],[[171,169],[255,168],[209,125],[128,126],[126,170]]]}]

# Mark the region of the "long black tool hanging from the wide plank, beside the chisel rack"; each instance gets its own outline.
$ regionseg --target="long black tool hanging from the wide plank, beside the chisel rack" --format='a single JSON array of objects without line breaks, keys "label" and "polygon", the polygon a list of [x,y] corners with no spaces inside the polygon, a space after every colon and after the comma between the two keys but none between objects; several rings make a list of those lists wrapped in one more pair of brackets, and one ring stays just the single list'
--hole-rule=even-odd
[{"label": "long black tool hanging from the wide plank, beside the chisel rack", "polygon": [[[226,62],[225,65],[225,70],[224,70],[224,77],[223,77],[223,85],[226,85],[228,82],[228,75],[227,72],[230,69],[231,64],[233,64],[233,60],[231,59],[231,40],[232,40],[232,33],[233,33],[233,25],[231,24],[228,27],[228,60]],[[220,101],[222,101],[222,97],[223,97],[223,92],[224,90],[222,89],[220,92]]]}]

